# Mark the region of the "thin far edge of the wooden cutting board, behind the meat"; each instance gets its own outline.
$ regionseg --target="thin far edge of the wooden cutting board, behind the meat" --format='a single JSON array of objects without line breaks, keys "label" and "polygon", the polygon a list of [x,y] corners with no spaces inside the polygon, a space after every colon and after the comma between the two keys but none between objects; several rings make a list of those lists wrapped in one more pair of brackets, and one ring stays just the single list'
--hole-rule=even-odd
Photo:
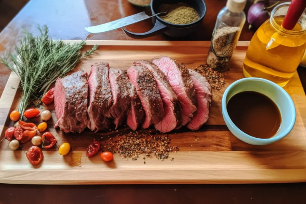
[{"label": "thin far edge of the wooden cutting board, behind the meat", "polygon": [[[80,40],[63,40],[64,43],[77,43]],[[152,40],[86,40],[86,45],[104,46],[210,46],[211,41],[152,41]],[[192,45],[191,45],[192,43]],[[237,46],[248,46],[250,41],[238,41]]]}]

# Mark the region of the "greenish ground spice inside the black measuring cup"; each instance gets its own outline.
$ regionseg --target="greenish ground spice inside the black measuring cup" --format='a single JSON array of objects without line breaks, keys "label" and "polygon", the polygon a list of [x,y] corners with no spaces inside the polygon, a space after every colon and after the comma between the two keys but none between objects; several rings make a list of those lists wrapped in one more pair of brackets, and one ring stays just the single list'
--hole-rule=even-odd
[{"label": "greenish ground spice inside the black measuring cup", "polygon": [[196,9],[182,2],[177,4],[162,4],[158,10],[159,12],[168,11],[166,15],[160,17],[162,20],[173,24],[189,24],[200,18]]}]

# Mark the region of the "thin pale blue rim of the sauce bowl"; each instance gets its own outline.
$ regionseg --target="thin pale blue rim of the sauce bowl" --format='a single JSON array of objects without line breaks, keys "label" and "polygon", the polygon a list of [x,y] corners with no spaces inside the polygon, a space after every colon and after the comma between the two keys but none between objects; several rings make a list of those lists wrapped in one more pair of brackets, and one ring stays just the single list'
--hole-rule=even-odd
[{"label": "thin pale blue rim of the sauce bowl", "polygon": [[[274,88],[278,89],[279,91],[282,92],[282,94],[284,94],[286,96],[286,98],[288,98],[289,100],[289,103],[290,103],[290,109],[291,111],[293,112],[293,118],[291,119],[290,121],[290,124],[287,128],[285,128],[284,132],[282,132],[281,134],[276,135],[277,136],[273,136],[271,138],[267,138],[267,139],[262,139],[262,138],[257,138],[257,137],[253,137],[251,135],[248,135],[244,132],[242,132],[234,123],[233,121],[230,119],[230,116],[227,112],[227,109],[226,109],[226,96],[228,94],[228,92],[234,87],[236,86],[238,83],[241,83],[243,81],[261,81],[261,82],[264,82],[264,83],[269,83],[270,85],[272,85]],[[296,110],[295,110],[295,106],[294,106],[294,103],[293,103],[293,100],[292,98],[290,97],[290,95],[282,88],[280,87],[278,84],[270,81],[270,80],[266,80],[266,79],[262,79],[262,78],[256,78],[256,77],[248,77],[248,78],[243,78],[243,79],[240,79],[240,80],[237,80],[235,82],[233,82],[232,84],[230,84],[230,86],[228,86],[226,88],[226,90],[224,91],[223,95],[222,95],[222,102],[221,102],[221,108],[222,108],[222,115],[223,115],[223,119],[226,120],[229,125],[231,126],[231,128],[235,129],[237,131],[237,133],[244,137],[244,138],[247,138],[247,139],[250,139],[250,140],[253,140],[255,142],[258,142],[258,143],[273,143],[273,142],[276,142],[282,138],[284,138],[286,135],[289,134],[289,132],[293,129],[293,126],[295,124],[295,121],[296,121]],[[226,124],[227,125],[227,124]],[[239,138],[238,138],[239,139]]]}]

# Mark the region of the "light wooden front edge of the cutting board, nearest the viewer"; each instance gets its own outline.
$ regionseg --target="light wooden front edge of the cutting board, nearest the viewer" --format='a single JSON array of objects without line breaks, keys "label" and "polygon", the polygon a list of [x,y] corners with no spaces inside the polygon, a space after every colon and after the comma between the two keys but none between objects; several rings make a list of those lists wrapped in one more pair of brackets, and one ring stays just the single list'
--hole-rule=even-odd
[{"label": "light wooden front edge of the cutting board, nearest the viewer", "polygon": [[[150,170],[148,170],[150,171]],[[306,169],[263,169],[263,170],[155,170],[148,178],[146,170],[111,171],[40,171],[0,170],[3,184],[263,184],[306,182]],[[136,173],[137,172],[137,173]],[[96,178],[96,175],[103,175]],[[9,176],[13,175],[13,176]],[[18,175],[18,176],[17,176]],[[36,176],[35,176],[36,175]],[[39,176],[37,176],[39,175]],[[93,176],[95,175],[95,176]],[[129,180],[117,176],[129,176]],[[181,175],[184,175],[182,178]],[[272,176],[273,175],[273,176]],[[33,179],[33,176],[37,179]],[[143,176],[143,178],[142,178]]]}]

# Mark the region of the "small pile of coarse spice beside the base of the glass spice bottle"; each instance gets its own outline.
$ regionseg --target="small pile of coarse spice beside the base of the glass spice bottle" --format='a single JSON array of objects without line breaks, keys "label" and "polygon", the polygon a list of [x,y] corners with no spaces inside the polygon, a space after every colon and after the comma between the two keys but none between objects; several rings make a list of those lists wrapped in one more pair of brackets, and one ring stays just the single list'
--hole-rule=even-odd
[{"label": "small pile of coarse spice beside the base of the glass spice bottle", "polygon": [[207,64],[199,65],[194,70],[204,76],[213,89],[220,90],[225,86],[225,74],[212,70]]}]

